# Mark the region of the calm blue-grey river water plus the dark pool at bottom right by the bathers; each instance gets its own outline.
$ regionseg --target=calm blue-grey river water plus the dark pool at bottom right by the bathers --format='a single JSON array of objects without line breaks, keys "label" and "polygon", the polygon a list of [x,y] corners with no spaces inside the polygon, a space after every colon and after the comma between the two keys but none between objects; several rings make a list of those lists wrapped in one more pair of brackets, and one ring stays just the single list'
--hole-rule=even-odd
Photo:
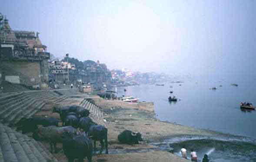
[{"label": "calm blue-grey river water plus the dark pool at bottom right by the bathers", "polygon": [[[183,83],[141,84],[129,87],[117,87],[117,96],[135,96],[140,101],[153,101],[156,117],[185,126],[209,129],[233,135],[246,136],[256,139],[256,110],[241,110],[241,101],[256,105],[256,77],[197,77],[176,78],[173,81]],[[232,86],[231,84],[238,84]],[[181,84],[181,85],[180,85]],[[221,85],[221,87],[220,87]],[[216,87],[216,90],[210,89]],[[124,88],[127,90],[123,91]],[[170,94],[173,91],[173,94]],[[170,103],[168,97],[175,95],[179,100]],[[185,142],[190,145],[190,140]],[[203,147],[200,154],[210,151],[213,162],[236,162],[239,160],[255,162],[256,145],[248,143],[213,141],[193,141]],[[209,143],[206,145],[206,143]],[[220,144],[222,143],[222,144]],[[176,142],[173,147],[179,155],[179,149],[184,141]],[[225,150],[224,148],[227,148]],[[231,152],[231,149],[233,151]],[[246,148],[247,147],[247,148]],[[246,149],[254,148],[253,152]],[[199,151],[199,150],[198,150]],[[225,152],[227,151],[227,152]],[[247,154],[246,154],[247,153]],[[238,156],[234,156],[239,154]],[[222,157],[222,158],[221,158]],[[246,159],[247,158],[247,159]]]}]

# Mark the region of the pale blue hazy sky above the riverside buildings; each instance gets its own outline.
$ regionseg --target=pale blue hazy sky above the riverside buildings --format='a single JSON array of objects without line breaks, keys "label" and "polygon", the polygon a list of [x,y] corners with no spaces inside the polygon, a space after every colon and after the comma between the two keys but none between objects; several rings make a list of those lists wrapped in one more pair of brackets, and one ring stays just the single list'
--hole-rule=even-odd
[{"label": "pale blue hazy sky above the riverside buildings", "polygon": [[1,0],[12,29],[48,52],[108,68],[168,74],[254,73],[256,0]]}]

